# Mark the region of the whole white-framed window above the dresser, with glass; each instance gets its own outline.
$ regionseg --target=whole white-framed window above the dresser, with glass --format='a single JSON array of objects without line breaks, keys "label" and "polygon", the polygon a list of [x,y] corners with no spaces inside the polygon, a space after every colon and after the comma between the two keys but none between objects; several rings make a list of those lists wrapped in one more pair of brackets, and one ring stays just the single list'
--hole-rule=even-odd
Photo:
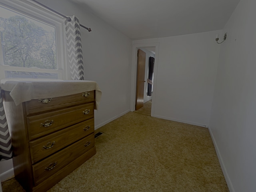
[{"label": "whole white-framed window above the dresser, with glass", "polygon": [[0,3],[0,79],[65,79],[63,18],[31,1]]}]

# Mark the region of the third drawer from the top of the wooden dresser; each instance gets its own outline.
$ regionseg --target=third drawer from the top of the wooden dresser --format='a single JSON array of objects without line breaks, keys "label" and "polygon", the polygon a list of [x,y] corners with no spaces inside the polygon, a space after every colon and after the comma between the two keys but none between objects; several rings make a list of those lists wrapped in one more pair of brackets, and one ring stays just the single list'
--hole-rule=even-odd
[{"label": "third drawer from the top of the wooden dresser", "polygon": [[32,164],[94,132],[94,118],[30,141]]}]

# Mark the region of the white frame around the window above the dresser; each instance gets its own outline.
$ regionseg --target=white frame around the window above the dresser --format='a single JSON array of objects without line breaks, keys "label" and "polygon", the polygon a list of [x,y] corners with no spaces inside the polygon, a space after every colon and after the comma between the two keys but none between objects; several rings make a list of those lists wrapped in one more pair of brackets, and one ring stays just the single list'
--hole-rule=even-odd
[{"label": "white frame around the window above the dresser", "polygon": [[[67,57],[66,57],[66,37],[64,19],[47,10],[46,8],[36,4],[35,2],[28,0],[1,0],[0,6],[18,12],[25,15],[28,18],[38,20],[46,23],[55,28],[56,38],[56,58],[58,69],[41,69],[41,68],[24,68],[7,66],[3,64],[3,60],[0,58],[0,79],[5,78],[5,71],[25,71],[25,72],[44,72],[44,73],[57,73],[60,80],[68,79]],[[2,57],[2,52],[0,53]]]}]

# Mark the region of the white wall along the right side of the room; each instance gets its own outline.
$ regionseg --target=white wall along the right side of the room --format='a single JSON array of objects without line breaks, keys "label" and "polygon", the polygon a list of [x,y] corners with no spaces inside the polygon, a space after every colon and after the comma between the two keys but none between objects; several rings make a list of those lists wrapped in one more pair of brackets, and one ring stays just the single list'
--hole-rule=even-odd
[{"label": "white wall along the right side of the room", "polygon": [[223,32],[210,131],[230,192],[256,191],[256,1],[241,0]]}]

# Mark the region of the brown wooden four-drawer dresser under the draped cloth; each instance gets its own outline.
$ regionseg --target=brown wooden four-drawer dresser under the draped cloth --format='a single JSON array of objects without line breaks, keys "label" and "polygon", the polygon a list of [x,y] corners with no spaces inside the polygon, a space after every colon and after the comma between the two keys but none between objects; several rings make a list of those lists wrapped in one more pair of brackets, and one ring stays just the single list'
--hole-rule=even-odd
[{"label": "brown wooden four-drawer dresser under the draped cloth", "polygon": [[95,91],[40,98],[16,106],[4,91],[16,180],[45,192],[95,153]]}]

